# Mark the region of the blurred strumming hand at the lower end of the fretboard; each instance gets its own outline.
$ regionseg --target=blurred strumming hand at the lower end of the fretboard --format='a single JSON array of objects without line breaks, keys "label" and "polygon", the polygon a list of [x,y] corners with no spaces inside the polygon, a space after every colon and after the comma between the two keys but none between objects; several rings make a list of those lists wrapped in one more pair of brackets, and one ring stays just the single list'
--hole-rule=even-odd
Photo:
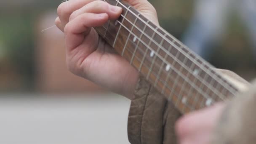
[{"label": "blurred strumming hand at the lower end of the fretboard", "polygon": [[221,103],[181,117],[176,123],[179,144],[211,144],[223,109]]}]

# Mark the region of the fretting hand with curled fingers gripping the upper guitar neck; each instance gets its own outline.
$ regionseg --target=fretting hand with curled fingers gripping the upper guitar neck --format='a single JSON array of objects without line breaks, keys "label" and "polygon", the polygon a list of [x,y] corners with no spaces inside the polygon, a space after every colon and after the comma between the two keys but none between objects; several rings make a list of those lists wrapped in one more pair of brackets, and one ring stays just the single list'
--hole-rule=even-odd
[{"label": "fretting hand with curled fingers gripping the upper guitar neck", "polygon": [[[158,24],[155,8],[147,0],[127,2]],[[122,8],[101,0],[69,0],[59,5],[55,23],[65,33],[67,66],[72,73],[133,99],[138,72],[92,28],[121,13]]]}]

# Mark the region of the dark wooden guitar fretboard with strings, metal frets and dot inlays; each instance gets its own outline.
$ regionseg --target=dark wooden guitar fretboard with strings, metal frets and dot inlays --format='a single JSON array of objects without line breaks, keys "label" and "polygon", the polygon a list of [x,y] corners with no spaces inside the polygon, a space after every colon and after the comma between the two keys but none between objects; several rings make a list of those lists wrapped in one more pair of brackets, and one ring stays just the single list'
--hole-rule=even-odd
[{"label": "dark wooden guitar fretboard with strings, metal frets and dot inlays", "polygon": [[211,64],[133,7],[122,0],[104,1],[122,7],[123,13],[96,31],[180,112],[208,107],[238,91]]}]

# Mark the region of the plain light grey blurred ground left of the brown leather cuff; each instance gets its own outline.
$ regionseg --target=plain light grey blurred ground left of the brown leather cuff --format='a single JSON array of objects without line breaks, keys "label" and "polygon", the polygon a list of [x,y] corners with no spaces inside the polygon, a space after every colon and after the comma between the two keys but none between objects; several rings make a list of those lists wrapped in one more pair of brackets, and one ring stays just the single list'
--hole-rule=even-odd
[{"label": "plain light grey blurred ground left of the brown leather cuff", "polygon": [[129,105],[112,94],[5,96],[0,144],[129,144]]}]

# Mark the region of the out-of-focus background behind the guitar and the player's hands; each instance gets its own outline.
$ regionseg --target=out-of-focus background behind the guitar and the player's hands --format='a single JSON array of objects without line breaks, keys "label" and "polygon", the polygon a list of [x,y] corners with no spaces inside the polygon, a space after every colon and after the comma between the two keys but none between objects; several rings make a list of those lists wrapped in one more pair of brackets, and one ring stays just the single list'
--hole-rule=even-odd
[{"label": "out-of-focus background behind the guitar and the player's hands", "polygon": [[[149,1],[160,25],[215,67],[256,76],[254,0]],[[0,1],[0,144],[128,144],[130,101],[68,72],[64,35],[41,32],[60,3]]]}]

